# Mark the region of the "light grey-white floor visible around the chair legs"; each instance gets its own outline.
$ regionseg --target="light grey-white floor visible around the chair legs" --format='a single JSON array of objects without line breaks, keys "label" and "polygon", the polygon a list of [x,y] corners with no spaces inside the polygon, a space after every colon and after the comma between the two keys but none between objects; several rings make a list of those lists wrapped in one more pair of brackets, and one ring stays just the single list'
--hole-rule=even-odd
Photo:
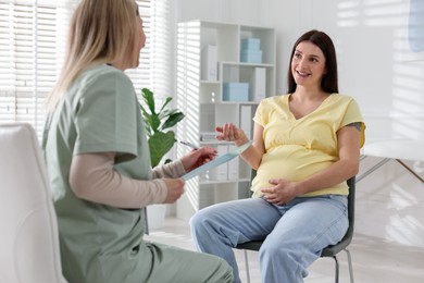
[{"label": "light grey-white floor visible around the chair legs", "polygon": [[[195,250],[186,221],[167,217],[164,225],[150,232],[146,239]],[[357,283],[423,283],[424,248],[387,243],[379,238],[356,234],[349,247],[353,261],[354,282]],[[242,250],[235,250],[240,276],[246,280],[246,267]],[[259,283],[257,253],[249,251],[249,270],[252,283]],[[349,281],[347,256],[339,254],[340,283]],[[305,283],[334,282],[334,260],[322,258],[309,268]]]}]

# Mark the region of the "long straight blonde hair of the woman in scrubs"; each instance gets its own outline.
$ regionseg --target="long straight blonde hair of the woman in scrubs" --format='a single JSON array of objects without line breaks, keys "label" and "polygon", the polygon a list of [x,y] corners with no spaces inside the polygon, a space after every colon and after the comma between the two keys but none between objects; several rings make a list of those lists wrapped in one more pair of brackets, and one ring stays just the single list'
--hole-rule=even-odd
[{"label": "long straight blonde hair of the woman in scrubs", "polygon": [[[82,0],[71,20],[61,74],[47,97],[53,111],[70,85],[90,65],[130,63],[136,52],[138,7],[135,0]],[[138,52],[138,50],[137,50]]]}]

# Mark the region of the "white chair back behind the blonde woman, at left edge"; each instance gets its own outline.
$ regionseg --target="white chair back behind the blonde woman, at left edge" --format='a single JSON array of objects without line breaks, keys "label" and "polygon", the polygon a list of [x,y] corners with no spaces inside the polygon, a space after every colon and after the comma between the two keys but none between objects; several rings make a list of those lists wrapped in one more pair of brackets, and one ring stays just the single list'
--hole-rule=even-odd
[{"label": "white chair back behind the blonde woman, at left edge", "polygon": [[0,283],[63,283],[58,223],[34,128],[0,124]]}]

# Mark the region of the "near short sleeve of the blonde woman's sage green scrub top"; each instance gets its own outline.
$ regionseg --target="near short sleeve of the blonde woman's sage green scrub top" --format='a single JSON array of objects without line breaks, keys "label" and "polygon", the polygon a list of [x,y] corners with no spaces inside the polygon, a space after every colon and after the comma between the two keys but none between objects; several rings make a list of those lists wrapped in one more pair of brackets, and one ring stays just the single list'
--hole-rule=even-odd
[{"label": "near short sleeve of the blonde woman's sage green scrub top", "polygon": [[124,73],[98,75],[82,88],[76,101],[74,155],[113,151],[136,156],[137,98]]}]

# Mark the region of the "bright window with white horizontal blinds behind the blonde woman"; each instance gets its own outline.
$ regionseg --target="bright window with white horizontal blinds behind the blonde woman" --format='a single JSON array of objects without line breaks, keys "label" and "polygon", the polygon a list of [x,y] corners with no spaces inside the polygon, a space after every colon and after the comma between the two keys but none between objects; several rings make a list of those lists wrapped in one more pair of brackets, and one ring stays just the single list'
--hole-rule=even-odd
[{"label": "bright window with white horizontal blinds behind the blonde woman", "polygon": [[[60,73],[76,2],[0,0],[0,123],[30,123],[40,137],[45,97]],[[147,35],[140,66],[127,71],[137,94],[141,87],[163,95],[170,91],[169,2],[137,0]]]}]

